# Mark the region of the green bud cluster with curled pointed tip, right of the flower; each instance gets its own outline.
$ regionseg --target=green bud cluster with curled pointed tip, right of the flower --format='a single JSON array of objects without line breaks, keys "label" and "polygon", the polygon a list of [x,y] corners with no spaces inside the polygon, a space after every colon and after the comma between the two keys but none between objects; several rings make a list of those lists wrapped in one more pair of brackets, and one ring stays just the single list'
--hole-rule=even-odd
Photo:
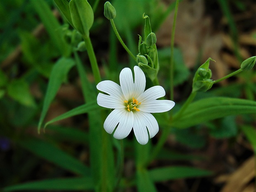
[{"label": "green bud cluster with curled pointed tip, right of the flower", "polygon": [[212,75],[211,69],[209,69],[210,61],[214,60],[211,58],[207,59],[206,62],[197,69],[193,79],[192,92],[206,92],[215,82],[210,79]]}]

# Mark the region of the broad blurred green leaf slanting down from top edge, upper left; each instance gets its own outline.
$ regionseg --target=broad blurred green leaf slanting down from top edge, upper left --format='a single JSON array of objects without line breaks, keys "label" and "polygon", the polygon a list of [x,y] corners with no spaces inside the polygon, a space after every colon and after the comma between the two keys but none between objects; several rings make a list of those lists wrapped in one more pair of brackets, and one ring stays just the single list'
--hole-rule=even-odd
[{"label": "broad blurred green leaf slanting down from top edge, upper left", "polygon": [[35,7],[36,12],[38,12],[39,17],[42,20],[56,48],[63,56],[68,57],[70,55],[70,47],[65,42],[62,27],[52,14],[47,2],[45,0],[31,0],[30,2],[32,3],[33,7]]}]

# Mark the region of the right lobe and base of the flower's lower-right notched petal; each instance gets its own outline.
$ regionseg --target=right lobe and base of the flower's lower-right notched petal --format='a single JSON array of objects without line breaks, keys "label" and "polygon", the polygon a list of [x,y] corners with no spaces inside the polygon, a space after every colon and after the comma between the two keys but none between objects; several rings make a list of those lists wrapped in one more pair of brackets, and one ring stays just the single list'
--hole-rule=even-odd
[{"label": "right lobe and base of the flower's lower-right notched petal", "polygon": [[159,131],[159,126],[154,118],[154,116],[150,113],[145,113],[145,112],[136,112],[134,113],[134,125],[137,124],[137,121],[142,121],[142,123],[147,126],[148,132],[149,132],[149,138],[152,138],[158,133]]}]

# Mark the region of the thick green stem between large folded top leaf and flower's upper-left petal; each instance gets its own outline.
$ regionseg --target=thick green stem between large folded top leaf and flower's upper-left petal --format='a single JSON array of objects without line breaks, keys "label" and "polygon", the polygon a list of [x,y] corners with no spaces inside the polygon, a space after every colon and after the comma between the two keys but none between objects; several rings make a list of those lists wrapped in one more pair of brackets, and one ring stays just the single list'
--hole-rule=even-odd
[{"label": "thick green stem between large folded top leaf and flower's upper-left petal", "polygon": [[83,36],[83,39],[85,40],[86,49],[88,52],[89,60],[92,66],[92,73],[95,78],[96,84],[100,83],[101,77],[100,77],[100,70],[99,66],[97,64],[97,59],[95,57],[95,53],[92,47],[92,43],[89,36]]}]

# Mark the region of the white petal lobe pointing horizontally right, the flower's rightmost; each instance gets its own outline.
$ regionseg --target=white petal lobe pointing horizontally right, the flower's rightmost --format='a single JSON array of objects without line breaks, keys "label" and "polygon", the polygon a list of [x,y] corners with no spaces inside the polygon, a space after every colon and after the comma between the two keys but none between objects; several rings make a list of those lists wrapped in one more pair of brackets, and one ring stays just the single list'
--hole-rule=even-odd
[{"label": "white petal lobe pointing horizontally right, the flower's rightmost", "polygon": [[141,103],[140,111],[144,111],[147,113],[162,113],[169,111],[172,109],[175,105],[175,102],[171,100],[154,100],[151,102],[144,102]]}]

